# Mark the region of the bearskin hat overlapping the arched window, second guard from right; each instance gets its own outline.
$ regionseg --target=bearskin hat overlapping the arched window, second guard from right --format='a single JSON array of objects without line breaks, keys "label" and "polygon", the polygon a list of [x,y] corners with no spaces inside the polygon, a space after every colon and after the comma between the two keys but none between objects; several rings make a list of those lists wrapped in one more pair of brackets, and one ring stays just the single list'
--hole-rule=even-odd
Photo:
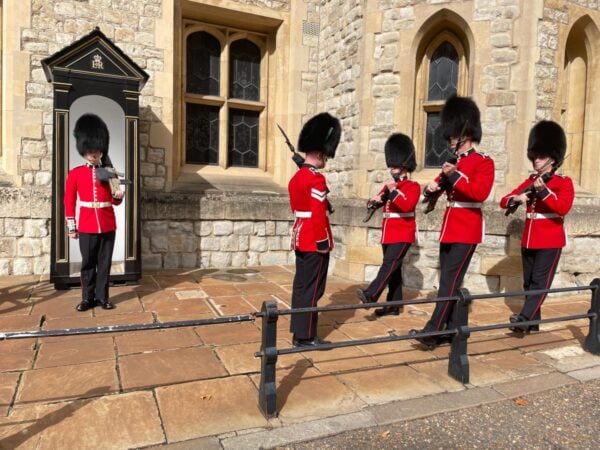
[{"label": "bearskin hat overlapping the arched window, second guard from right", "polygon": [[441,122],[442,135],[446,140],[462,136],[471,138],[473,142],[481,141],[479,108],[469,97],[453,95],[448,98],[442,108]]}]

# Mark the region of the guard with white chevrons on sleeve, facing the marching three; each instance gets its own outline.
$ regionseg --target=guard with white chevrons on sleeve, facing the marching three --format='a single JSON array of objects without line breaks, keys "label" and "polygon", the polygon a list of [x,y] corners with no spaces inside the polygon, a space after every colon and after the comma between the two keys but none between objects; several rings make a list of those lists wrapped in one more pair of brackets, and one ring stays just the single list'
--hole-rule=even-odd
[{"label": "guard with white chevrons on sleeve, facing the marching three", "polygon": [[[292,308],[316,306],[325,292],[333,236],[327,217],[329,189],[319,170],[335,156],[341,132],[337,118],[320,113],[304,125],[298,139],[298,150],[306,154],[306,160],[288,184],[296,218],[292,229],[292,249],[296,253]],[[293,314],[290,331],[295,346],[323,343],[317,336],[317,313]]]}]

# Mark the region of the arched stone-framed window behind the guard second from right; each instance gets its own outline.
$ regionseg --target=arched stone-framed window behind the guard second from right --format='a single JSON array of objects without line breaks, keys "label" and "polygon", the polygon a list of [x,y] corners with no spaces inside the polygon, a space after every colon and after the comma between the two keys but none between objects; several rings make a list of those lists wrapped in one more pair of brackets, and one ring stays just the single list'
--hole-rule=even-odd
[{"label": "arched stone-framed window behind the guard second from right", "polygon": [[467,61],[461,40],[450,31],[437,33],[418,57],[413,140],[422,167],[439,168],[450,156],[440,129],[444,102],[465,95]]}]

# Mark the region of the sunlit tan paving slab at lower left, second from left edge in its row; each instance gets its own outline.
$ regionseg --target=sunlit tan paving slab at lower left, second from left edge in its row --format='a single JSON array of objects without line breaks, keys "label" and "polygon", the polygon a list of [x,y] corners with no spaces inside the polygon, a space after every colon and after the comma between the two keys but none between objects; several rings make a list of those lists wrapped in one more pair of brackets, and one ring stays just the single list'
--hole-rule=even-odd
[{"label": "sunlit tan paving slab at lower left, second from left edge in its row", "polygon": [[16,403],[86,398],[116,392],[115,361],[49,367],[23,373]]}]

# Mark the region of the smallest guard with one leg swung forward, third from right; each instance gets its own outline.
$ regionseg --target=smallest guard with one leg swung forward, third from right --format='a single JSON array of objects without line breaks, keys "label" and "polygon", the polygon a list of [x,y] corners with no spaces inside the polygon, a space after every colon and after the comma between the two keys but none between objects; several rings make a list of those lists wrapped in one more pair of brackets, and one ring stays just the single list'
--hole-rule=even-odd
[{"label": "smallest guard with one leg swung forward, third from right", "polygon": [[[421,187],[409,179],[417,168],[411,139],[401,133],[392,134],[385,143],[385,162],[391,179],[369,200],[372,204],[384,203],[381,224],[383,263],[371,284],[356,291],[363,303],[376,302],[386,287],[386,301],[402,300],[402,262],[417,234],[415,207]],[[388,314],[400,314],[400,307],[384,306],[375,310],[377,316]]]}]

